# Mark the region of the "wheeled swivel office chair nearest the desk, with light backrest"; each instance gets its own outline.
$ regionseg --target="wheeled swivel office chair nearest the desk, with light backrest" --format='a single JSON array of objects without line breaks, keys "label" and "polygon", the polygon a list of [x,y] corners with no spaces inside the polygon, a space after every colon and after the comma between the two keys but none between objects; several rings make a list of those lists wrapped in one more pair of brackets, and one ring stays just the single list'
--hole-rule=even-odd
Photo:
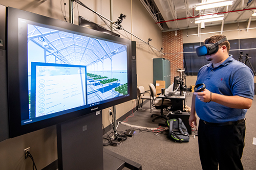
[{"label": "wheeled swivel office chair nearest the desk, with light backrest", "polygon": [[[168,99],[164,99],[163,101],[163,105],[162,105],[162,99],[157,99],[156,98],[156,87],[154,86],[154,84],[150,83],[148,86],[150,86],[150,93],[151,96],[153,98],[151,105],[154,106],[156,109],[161,109],[161,107],[163,108],[168,108],[169,106],[172,106],[172,102]],[[152,122],[155,122],[155,119],[158,118],[164,118],[165,120],[168,120],[164,115],[162,114],[152,114],[151,117],[153,116],[157,116],[155,117]]]}]

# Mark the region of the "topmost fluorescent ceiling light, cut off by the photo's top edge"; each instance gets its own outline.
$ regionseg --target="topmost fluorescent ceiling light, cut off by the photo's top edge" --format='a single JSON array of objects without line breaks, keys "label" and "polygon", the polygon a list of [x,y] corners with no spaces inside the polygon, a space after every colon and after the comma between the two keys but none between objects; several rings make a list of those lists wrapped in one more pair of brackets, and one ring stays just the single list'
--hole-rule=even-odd
[{"label": "topmost fluorescent ceiling light, cut off by the photo's top edge", "polygon": [[206,3],[200,3],[196,5],[196,11],[204,10],[204,9],[210,9],[210,8],[218,8],[218,7],[224,7],[232,5],[233,1],[227,1],[227,0],[211,0],[207,1]]}]

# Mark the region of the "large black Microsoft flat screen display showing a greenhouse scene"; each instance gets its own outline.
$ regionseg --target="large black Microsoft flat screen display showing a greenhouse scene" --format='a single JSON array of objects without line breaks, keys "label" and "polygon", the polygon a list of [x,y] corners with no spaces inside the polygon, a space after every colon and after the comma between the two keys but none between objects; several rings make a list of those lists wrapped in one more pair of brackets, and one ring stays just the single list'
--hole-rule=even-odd
[{"label": "large black Microsoft flat screen display showing a greenhouse scene", "polygon": [[132,99],[131,41],[8,8],[10,136]]}]

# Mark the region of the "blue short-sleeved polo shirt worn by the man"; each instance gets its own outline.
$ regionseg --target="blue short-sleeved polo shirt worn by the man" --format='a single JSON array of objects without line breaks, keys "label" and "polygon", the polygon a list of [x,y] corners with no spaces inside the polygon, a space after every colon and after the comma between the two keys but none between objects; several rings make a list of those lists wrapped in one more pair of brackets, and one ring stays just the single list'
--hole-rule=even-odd
[{"label": "blue short-sleeved polo shirt worn by the man", "polygon": [[[204,83],[206,89],[222,95],[239,95],[253,100],[254,80],[252,70],[230,55],[218,67],[204,65],[198,72],[196,84]],[[204,103],[196,98],[197,115],[210,123],[224,123],[245,118],[247,109],[233,109],[221,104]]]}]

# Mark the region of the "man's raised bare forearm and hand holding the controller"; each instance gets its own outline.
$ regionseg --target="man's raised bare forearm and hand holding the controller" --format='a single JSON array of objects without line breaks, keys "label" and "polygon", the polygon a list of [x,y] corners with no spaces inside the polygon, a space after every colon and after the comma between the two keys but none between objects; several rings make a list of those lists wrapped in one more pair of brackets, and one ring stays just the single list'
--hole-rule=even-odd
[{"label": "man's raised bare forearm and hand holding the controller", "polygon": [[197,98],[201,99],[202,102],[209,102],[211,98],[211,102],[216,102],[223,106],[234,109],[249,109],[252,104],[252,100],[249,98],[244,98],[239,95],[228,96],[211,93],[207,89],[204,89],[202,92],[195,92],[194,94],[197,96]]}]

